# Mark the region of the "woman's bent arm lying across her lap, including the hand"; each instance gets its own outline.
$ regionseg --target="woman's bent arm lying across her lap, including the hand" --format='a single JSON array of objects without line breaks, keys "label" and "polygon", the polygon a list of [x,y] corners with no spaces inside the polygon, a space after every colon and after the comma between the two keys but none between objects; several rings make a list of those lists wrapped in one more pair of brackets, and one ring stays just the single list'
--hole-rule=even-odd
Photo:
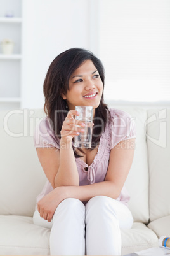
[{"label": "woman's bent arm lying across her lap, including the hand", "polygon": [[133,162],[134,141],[121,141],[110,152],[105,181],[85,186],[58,187],[44,196],[38,203],[38,210],[44,219],[51,221],[58,204],[66,198],[72,197],[87,202],[94,196],[119,197]]}]

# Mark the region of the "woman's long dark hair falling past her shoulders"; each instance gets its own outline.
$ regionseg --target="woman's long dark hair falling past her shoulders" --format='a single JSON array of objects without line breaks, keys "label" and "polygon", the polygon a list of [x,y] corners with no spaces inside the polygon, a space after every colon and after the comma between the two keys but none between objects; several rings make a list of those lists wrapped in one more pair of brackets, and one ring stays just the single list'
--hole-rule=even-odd
[{"label": "woman's long dark hair falling past her shoulders", "polygon": [[[92,52],[82,48],[71,48],[60,53],[60,55],[51,62],[46,74],[43,85],[45,97],[44,111],[53,125],[56,141],[60,141],[60,131],[68,112],[67,104],[62,98],[62,94],[66,94],[67,90],[69,90],[69,78],[72,73],[74,73],[75,69],[79,68],[79,66],[86,60],[91,60],[93,62],[98,70],[104,88],[105,70],[103,64]],[[100,141],[100,136],[107,124],[108,115],[108,108],[103,102],[102,94],[100,104],[95,110],[95,117],[93,120],[94,126],[91,150],[93,150]],[[81,157],[77,154],[75,148],[74,155],[75,157]]]}]

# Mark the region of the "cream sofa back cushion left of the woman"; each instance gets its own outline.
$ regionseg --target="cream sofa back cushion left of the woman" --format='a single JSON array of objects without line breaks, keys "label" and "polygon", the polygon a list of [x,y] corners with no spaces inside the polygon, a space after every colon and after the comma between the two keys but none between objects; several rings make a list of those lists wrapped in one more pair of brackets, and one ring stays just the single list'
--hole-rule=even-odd
[{"label": "cream sofa back cushion left of the woman", "polygon": [[34,126],[43,115],[42,110],[0,112],[0,215],[34,213],[46,181],[33,142]]}]

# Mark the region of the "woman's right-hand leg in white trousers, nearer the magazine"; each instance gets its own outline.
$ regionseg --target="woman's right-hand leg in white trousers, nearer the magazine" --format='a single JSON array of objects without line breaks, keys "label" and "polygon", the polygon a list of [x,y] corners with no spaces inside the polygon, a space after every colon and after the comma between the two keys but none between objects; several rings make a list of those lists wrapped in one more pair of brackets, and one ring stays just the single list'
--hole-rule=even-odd
[{"label": "woman's right-hand leg in white trousers, nearer the magazine", "polygon": [[120,228],[129,229],[133,217],[128,207],[107,196],[86,204],[87,255],[121,255]]}]

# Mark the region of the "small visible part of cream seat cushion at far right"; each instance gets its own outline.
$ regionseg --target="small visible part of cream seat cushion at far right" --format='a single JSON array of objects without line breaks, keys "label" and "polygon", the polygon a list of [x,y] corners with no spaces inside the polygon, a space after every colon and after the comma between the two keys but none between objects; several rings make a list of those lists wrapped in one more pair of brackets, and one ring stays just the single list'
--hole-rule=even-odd
[{"label": "small visible part of cream seat cushion at far right", "polygon": [[153,222],[148,224],[148,227],[152,229],[155,234],[160,238],[160,236],[169,236],[170,234],[170,215],[162,218],[158,218]]}]

